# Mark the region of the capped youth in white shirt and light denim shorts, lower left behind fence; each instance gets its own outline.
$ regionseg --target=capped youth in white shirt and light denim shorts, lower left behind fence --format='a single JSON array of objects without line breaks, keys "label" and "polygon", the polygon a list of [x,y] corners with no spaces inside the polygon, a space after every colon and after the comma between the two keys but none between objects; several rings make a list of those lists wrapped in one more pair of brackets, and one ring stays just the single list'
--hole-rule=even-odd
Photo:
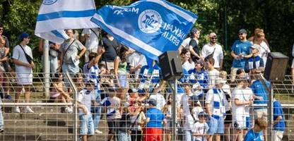
[{"label": "capped youth in white shirt and light denim shorts, lower left behind fence", "polygon": [[79,119],[80,119],[80,134],[83,141],[88,140],[90,135],[94,135],[94,123],[92,114],[90,113],[91,102],[97,105],[95,102],[95,82],[89,80],[86,82],[86,87],[78,93],[78,107]]}]

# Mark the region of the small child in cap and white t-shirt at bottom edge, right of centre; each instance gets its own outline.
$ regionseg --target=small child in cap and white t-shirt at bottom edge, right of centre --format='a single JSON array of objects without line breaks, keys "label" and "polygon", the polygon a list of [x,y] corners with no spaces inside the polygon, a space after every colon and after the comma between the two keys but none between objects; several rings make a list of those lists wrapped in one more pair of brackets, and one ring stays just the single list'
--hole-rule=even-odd
[{"label": "small child in cap and white t-shirt at bottom edge, right of centre", "polygon": [[199,121],[194,123],[192,133],[193,133],[193,136],[195,136],[196,141],[206,141],[207,131],[209,127],[208,127],[208,124],[206,123],[205,112],[201,111],[198,117],[199,117]]}]

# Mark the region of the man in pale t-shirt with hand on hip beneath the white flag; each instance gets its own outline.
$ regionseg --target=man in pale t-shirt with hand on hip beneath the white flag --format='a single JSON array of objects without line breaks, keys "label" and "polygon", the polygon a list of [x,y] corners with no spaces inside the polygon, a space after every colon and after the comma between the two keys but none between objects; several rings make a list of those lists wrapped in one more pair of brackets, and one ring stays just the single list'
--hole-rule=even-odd
[{"label": "man in pale t-shirt with hand on hip beneath the white flag", "polygon": [[[62,73],[69,72],[71,76],[74,76],[79,71],[78,63],[80,62],[81,56],[85,54],[86,47],[78,40],[73,39],[73,30],[66,30],[66,35],[69,36],[69,39],[66,39],[61,44],[60,62]],[[80,54],[78,54],[78,51],[81,51]]]}]

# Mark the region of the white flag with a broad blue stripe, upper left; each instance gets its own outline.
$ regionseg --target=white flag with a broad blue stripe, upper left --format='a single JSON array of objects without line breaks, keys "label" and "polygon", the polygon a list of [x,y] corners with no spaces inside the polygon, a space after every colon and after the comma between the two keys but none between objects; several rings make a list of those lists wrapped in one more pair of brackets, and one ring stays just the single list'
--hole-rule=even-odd
[{"label": "white flag with a broad blue stripe, upper left", "polygon": [[69,38],[64,29],[98,27],[90,22],[95,11],[93,0],[43,0],[35,35],[61,44]]}]

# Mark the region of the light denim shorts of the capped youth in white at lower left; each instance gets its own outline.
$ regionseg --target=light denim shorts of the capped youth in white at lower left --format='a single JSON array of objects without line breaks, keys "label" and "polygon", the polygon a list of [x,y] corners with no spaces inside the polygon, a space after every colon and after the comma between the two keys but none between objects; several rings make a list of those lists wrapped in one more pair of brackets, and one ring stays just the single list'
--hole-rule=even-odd
[{"label": "light denim shorts of the capped youth in white at lower left", "polygon": [[94,135],[94,122],[92,114],[80,115],[80,135]]}]

